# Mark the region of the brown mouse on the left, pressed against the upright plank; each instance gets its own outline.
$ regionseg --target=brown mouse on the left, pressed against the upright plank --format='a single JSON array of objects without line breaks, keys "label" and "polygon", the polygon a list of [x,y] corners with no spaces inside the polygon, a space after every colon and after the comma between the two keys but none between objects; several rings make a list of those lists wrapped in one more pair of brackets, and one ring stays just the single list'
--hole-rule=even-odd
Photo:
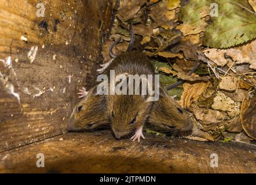
[{"label": "brown mouse on the left, pressed against the upright plank", "polygon": [[96,93],[97,86],[88,92],[80,90],[79,98],[83,98],[75,105],[68,122],[68,131],[92,130],[109,124],[107,114],[107,98]]}]

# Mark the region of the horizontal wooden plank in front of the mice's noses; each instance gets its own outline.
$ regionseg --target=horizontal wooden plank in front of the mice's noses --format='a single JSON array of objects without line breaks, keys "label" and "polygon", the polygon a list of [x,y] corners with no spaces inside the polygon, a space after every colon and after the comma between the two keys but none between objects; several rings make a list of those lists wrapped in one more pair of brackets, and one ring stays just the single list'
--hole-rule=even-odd
[{"label": "horizontal wooden plank in front of the mice's noses", "polygon": [[[141,143],[116,140],[111,131],[67,133],[0,154],[0,172],[255,173],[255,146],[196,142],[146,134]],[[36,167],[36,154],[45,168]],[[210,155],[218,154],[218,168]]]}]

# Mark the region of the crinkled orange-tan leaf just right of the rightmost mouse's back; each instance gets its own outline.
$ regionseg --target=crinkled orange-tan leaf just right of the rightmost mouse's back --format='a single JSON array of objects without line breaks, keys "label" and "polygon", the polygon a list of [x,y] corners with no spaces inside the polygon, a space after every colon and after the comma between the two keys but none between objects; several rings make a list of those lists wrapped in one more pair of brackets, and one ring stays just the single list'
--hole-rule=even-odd
[{"label": "crinkled orange-tan leaf just right of the rightmost mouse's back", "polygon": [[182,108],[189,108],[192,102],[198,100],[200,94],[210,86],[210,82],[200,82],[200,83],[184,83],[183,92],[180,99],[180,105]]}]

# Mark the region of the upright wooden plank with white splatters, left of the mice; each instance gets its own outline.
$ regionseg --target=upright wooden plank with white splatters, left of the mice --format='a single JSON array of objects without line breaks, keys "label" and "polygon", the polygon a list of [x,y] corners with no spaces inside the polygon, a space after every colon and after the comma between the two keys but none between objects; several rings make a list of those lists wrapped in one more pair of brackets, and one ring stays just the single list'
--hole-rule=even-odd
[{"label": "upright wooden plank with white splatters, left of the mice", "polygon": [[37,3],[0,2],[0,151],[65,132],[78,88],[96,76],[107,1],[44,1],[45,17]]}]

